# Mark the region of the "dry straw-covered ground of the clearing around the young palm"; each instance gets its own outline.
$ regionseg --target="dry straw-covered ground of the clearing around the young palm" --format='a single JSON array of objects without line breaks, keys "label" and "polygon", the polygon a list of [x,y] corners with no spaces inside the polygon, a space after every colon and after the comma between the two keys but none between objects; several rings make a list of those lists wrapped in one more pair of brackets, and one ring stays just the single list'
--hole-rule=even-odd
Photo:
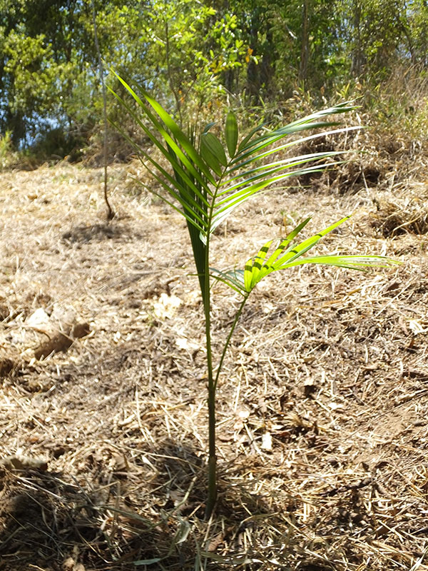
[{"label": "dry straw-covered ground of the clearing around the young palm", "polygon": [[[215,236],[215,266],[243,267],[303,216],[354,213],[317,251],[403,264],[260,284],[218,389],[208,522],[185,224],[137,163],[109,168],[109,223],[101,169],[0,173],[1,571],[428,569],[428,161],[376,144]],[[215,286],[217,354],[237,306]]]}]

